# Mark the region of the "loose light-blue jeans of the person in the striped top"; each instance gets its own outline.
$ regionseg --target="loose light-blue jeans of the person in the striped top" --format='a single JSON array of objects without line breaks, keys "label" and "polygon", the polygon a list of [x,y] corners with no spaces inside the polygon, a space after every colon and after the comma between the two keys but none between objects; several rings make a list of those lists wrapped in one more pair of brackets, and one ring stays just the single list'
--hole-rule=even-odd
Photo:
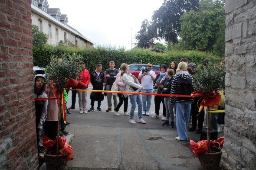
[{"label": "loose light-blue jeans of the person in the striped top", "polygon": [[176,127],[178,137],[187,140],[187,125],[189,122],[191,103],[175,103]]}]

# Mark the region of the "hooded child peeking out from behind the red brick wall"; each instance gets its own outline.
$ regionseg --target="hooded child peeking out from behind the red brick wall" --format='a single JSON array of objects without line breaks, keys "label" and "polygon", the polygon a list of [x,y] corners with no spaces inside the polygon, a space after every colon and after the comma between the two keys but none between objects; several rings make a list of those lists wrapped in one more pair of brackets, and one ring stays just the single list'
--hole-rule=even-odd
[{"label": "hooded child peeking out from behind the red brick wall", "polygon": [[[37,74],[34,77],[34,96],[35,98],[47,98],[44,90],[46,88],[46,84],[43,82],[46,78],[43,74]],[[48,100],[38,100],[35,101],[35,109],[36,109],[36,141],[37,141],[37,149],[39,153],[39,141],[40,135],[43,128],[43,122],[45,122],[47,117],[47,105]]]}]

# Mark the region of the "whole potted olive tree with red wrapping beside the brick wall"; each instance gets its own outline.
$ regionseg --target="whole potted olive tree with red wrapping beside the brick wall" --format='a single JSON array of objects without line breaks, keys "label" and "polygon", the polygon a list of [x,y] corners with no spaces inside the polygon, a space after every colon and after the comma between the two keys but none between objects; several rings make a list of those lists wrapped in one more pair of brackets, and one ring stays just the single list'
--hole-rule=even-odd
[{"label": "whole potted olive tree with red wrapping beside the brick wall", "polygon": [[[66,170],[66,161],[72,160],[72,147],[67,144],[66,138],[59,137],[59,126],[61,117],[61,103],[64,106],[63,90],[67,87],[77,87],[79,84],[78,77],[82,67],[78,62],[81,57],[76,54],[62,56],[52,56],[50,64],[46,66],[46,83],[53,90],[56,98],[59,100],[59,114],[56,140],[43,138],[43,145],[46,148],[44,152],[47,169]],[[63,112],[65,113],[64,109]],[[48,150],[48,151],[47,151]],[[49,152],[49,150],[51,150]]]}]

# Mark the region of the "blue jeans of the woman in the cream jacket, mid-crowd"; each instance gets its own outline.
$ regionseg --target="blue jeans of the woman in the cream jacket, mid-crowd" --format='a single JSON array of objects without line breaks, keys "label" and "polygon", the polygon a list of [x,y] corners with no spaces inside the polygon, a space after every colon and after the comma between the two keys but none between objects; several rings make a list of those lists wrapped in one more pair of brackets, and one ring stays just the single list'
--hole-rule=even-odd
[{"label": "blue jeans of the woman in the cream jacket, mid-crowd", "polygon": [[136,102],[138,104],[138,117],[139,119],[142,118],[142,99],[141,95],[133,94],[129,96],[131,102],[131,110],[130,110],[130,119],[134,118],[134,111],[136,108]]}]

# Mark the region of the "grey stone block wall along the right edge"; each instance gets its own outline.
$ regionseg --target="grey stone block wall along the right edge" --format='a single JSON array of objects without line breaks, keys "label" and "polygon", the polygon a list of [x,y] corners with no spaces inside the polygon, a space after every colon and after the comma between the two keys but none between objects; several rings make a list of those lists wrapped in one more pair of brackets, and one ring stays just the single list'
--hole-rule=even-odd
[{"label": "grey stone block wall along the right edge", "polygon": [[221,164],[256,170],[256,0],[226,0],[226,115]]}]

